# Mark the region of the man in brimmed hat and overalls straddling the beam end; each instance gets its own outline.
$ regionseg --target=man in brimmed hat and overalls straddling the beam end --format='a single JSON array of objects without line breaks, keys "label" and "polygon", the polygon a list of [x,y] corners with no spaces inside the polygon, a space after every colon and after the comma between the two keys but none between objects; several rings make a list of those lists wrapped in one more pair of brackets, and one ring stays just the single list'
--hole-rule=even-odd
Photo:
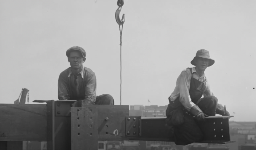
[{"label": "man in brimmed hat and overalls straddling the beam end", "polygon": [[204,74],[205,69],[214,63],[209,51],[198,50],[191,61],[195,67],[187,68],[180,73],[176,87],[168,98],[166,125],[170,134],[174,135],[177,145],[200,142],[203,137],[200,121],[205,120],[205,117],[216,114],[229,116],[229,112],[218,103],[218,99],[211,92]]}]

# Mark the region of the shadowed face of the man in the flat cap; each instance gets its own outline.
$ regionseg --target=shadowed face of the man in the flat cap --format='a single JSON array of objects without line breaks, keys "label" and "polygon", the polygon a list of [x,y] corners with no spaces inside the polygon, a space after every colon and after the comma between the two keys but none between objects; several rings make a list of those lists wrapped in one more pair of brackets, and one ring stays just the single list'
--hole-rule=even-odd
[{"label": "shadowed face of the man in the flat cap", "polygon": [[85,61],[82,54],[79,51],[72,51],[68,57],[68,62],[70,63],[71,68],[78,69],[80,68]]}]

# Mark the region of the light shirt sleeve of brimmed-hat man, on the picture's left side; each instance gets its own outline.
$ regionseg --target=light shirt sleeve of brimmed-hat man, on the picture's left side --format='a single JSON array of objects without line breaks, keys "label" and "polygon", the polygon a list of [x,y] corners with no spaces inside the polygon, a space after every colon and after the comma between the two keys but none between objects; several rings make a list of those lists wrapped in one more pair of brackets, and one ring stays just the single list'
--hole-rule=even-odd
[{"label": "light shirt sleeve of brimmed-hat man, on the picture's left side", "polygon": [[179,91],[180,91],[180,98],[179,101],[182,105],[190,111],[193,106],[196,106],[195,103],[191,101],[189,96],[189,86],[190,86],[190,76],[187,71],[182,71],[180,74],[180,82],[179,82]]}]

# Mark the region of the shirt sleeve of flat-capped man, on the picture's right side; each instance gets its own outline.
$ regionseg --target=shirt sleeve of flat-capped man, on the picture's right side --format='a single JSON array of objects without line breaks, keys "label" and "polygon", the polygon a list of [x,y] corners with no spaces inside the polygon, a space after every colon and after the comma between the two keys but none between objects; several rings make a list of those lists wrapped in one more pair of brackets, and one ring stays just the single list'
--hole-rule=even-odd
[{"label": "shirt sleeve of flat-capped man, on the picture's right side", "polygon": [[85,90],[85,99],[84,100],[90,100],[94,104],[96,101],[96,90],[97,90],[97,82],[96,82],[95,73],[91,73],[90,75],[88,75],[87,84],[86,84],[84,90]]}]

